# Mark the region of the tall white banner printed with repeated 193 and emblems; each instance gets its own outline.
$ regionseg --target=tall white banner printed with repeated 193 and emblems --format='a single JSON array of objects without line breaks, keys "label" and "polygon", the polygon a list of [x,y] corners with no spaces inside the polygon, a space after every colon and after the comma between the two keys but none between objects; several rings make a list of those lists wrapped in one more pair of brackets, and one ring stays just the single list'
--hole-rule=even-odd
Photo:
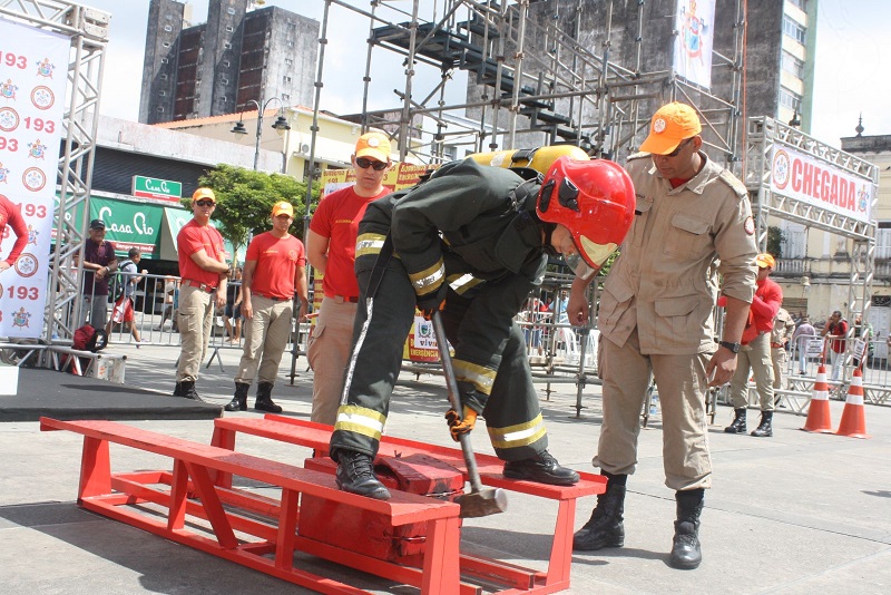
[{"label": "tall white banner printed with repeated 193 and emblems", "polygon": [[[19,205],[25,251],[0,272],[0,335],[37,339],[50,272],[52,207],[71,40],[0,18],[0,194]],[[7,227],[0,255],[16,237]]]}]

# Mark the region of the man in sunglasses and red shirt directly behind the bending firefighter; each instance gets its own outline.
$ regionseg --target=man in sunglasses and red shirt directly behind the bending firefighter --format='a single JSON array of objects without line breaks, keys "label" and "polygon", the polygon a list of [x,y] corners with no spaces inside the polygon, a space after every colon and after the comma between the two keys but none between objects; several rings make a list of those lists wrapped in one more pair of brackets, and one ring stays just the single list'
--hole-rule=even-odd
[{"label": "man in sunglasses and red shirt directly behind the bending firefighter", "polygon": [[325,196],[310,222],[306,256],[324,275],[322,308],[306,353],[313,369],[311,419],[319,423],[333,426],[337,416],[359,302],[354,271],[356,230],[369,203],[390,193],[383,186],[390,153],[385,135],[360,136],[352,156],[355,185]]}]

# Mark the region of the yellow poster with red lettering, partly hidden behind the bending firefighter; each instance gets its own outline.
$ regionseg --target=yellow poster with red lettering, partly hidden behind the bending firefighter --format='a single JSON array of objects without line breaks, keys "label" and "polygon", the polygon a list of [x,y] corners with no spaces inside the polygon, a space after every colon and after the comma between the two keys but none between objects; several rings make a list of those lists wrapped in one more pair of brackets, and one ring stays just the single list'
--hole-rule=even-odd
[{"label": "yellow poster with red lettering, partly hidden behind the bending firefighter", "polygon": [[[420,182],[421,176],[431,167],[429,165],[414,165],[410,163],[393,164],[383,178],[383,185],[391,192],[410,188]],[[353,169],[326,169],[322,173],[323,199],[332,192],[352,186],[355,184],[355,172]],[[317,312],[322,305],[322,275],[315,271],[313,276],[313,312]],[[417,314],[417,313],[415,313]],[[313,320],[313,323],[315,321]],[[439,361],[439,350],[437,340],[433,335],[433,326],[430,321],[422,316],[414,316],[414,324],[409,331],[409,338],[402,351],[402,359],[417,362]]]}]

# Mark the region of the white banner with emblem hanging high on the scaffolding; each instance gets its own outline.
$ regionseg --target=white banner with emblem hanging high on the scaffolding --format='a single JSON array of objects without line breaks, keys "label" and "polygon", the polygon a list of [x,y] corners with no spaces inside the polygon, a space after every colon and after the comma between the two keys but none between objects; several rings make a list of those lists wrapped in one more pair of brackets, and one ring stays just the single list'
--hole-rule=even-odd
[{"label": "white banner with emblem hanging high on the scaffolding", "polygon": [[674,65],[677,76],[706,89],[712,86],[715,0],[678,0]]}]

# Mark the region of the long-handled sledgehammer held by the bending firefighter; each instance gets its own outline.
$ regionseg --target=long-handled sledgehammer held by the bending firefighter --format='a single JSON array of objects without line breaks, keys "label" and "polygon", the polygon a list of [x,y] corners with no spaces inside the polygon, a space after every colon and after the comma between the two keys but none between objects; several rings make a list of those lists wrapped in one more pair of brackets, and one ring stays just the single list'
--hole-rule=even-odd
[{"label": "long-handled sledgehammer held by the bending firefighter", "polygon": [[[442,325],[442,316],[439,312],[433,313],[433,332],[437,334],[442,371],[446,374],[446,387],[449,389],[449,402],[460,416],[463,408],[458,393],[458,382],[454,379],[454,369],[452,368],[451,353],[449,353],[449,342],[446,339],[446,329]],[[503,513],[508,509],[508,495],[501,488],[483,489],[480,471],[477,469],[477,458],[473,456],[473,447],[470,445],[470,435],[462,433],[459,436],[459,441],[461,442],[461,451],[464,455],[467,476],[470,480],[470,494],[464,494],[456,499],[461,506],[461,518],[487,517]]]}]

